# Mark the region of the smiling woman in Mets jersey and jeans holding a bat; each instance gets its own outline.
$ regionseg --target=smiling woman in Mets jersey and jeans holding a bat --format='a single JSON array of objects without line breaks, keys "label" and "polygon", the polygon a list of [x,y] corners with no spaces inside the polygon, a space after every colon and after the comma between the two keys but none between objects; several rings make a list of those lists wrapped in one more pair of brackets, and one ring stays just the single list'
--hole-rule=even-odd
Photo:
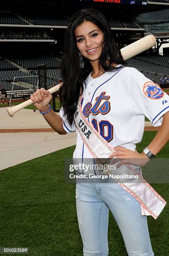
[{"label": "smiling woman in Mets jersey and jeans holding a bat", "polygon": [[[73,157],[82,163],[92,158],[85,143],[85,139],[92,136],[85,130],[87,124],[94,127],[102,140],[104,138],[105,145],[115,149],[109,158],[140,159],[140,165],[141,160],[153,158],[169,139],[168,95],[136,69],[125,66],[104,15],[94,9],[81,10],[70,20],[65,36],[60,115],[49,108],[52,95],[47,90],[41,88],[31,96],[55,131],[59,134],[77,131]],[[163,100],[167,101],[165,105]],[[88,121],[80,120],[79,127],[75,125],[78,101],[81,116]],[[145,150],[139,154],[135,144],[142,140],[144,115],[161,128],[148,145],[148,153]],[[135,169],[139,173],[137,166]],[[109,210],[117,221],[128,255],[154,255],[147,217],[142,216],[140,202],[119,184],[78,183],[76,198],[85,256],[108,255]]]}]

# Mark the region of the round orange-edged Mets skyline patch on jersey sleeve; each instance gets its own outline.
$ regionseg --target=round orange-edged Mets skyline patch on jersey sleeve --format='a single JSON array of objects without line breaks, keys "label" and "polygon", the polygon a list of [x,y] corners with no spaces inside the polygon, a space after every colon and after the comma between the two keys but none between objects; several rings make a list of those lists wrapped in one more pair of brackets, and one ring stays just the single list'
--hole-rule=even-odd
[{"label": "round orange-edged Mets skyline patch on jersey sleeve", "polygon": [[160,88],[157,84],[154,84],[153,82],[146,82],[144,84],[143,91],[144,94],[152,100],[158,100],[164,96],[162,88]]}]

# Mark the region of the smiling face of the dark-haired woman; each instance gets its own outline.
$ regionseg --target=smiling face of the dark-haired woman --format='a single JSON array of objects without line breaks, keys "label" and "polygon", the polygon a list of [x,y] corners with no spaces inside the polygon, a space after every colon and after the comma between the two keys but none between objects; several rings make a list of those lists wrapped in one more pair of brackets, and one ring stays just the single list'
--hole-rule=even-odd
[{"label": "smiling face of the dark-haired woman", "polygon": [[103,32],[90,21],[84,21],[75,28],[77,49],[90,61],[99,59],[103,36]]}]

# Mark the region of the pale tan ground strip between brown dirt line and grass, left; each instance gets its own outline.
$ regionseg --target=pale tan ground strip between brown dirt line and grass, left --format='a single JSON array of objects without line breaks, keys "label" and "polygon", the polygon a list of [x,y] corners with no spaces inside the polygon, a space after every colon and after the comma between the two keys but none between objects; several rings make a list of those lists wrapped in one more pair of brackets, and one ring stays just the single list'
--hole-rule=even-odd
[{"label": "pale tan ground strip between brown dirt line and grass, left", "polygon": [[76,144],[76,133],[0,133],[0,170]]}]

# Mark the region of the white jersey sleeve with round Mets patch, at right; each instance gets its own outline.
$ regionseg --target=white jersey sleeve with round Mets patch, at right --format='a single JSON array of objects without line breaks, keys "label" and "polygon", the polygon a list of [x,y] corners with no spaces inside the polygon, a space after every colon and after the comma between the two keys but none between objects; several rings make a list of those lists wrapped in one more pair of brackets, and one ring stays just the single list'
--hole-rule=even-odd
[{"label": "white jersey sleeve with round Mets patch, at right", "polygon": [[163,115],[169,111],[169,95],[137,69],[132,71],[132,111],[145,115],[153,126],[161,125]]}]

